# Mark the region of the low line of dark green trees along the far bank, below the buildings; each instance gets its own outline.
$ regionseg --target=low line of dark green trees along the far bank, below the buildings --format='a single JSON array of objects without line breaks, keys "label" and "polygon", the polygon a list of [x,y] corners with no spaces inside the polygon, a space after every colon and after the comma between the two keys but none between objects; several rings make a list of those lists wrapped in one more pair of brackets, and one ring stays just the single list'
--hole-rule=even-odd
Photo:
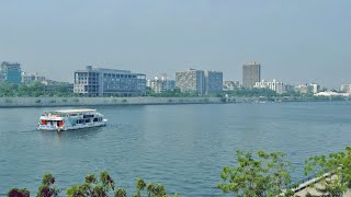
[{"label": "low line of dark green trees along the far bank, below the buildings", "polygon": [[[213,94],[200,94],[199,92],[181,92],[179,88],[173,90],[156,93],[150,88],[146,88],[146,96],[154,97],[261,97],[262,100],[274,100],[290,97],[298,101],[344,101],[344,97],[327,97],[327,96],[314,96],[313,94],[301,94],[299,92],[290,91],[283,94],[278,94],[270,89],[245,89],[238,88],[231,91],[222,91]],[[53,84],[43,84],[39,81],[35,81],[30,84],[13,84],[13,83],[0,83],[0,97],[4,96],[76,96],[81,95],[73,93],[72,88],[65,82],[55,82]]]}]

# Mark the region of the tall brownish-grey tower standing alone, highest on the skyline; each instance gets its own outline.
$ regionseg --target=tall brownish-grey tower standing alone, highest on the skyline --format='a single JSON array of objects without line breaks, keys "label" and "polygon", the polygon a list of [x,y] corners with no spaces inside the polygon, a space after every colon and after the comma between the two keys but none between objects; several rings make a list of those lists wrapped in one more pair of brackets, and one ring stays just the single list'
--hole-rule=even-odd
[{"label": "tall brownish-grey tower standing alone, highest on the skyline", "polygon": [[261,81],[261,65],[253,61],[242,66],[242,86],[252,89],[256,82]]}]

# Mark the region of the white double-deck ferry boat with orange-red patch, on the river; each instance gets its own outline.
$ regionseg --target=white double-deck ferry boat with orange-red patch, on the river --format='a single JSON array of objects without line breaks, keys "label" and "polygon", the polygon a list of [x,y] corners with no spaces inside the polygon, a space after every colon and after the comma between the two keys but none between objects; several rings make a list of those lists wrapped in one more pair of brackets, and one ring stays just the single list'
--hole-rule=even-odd
[{"label": "white double-deck ferry boat with orange-red patch, on the river", "polygon": [[105,126],[107,119],[97,109],[63,109],[45,112],[39,117],[38,130],[72,130]]}]

